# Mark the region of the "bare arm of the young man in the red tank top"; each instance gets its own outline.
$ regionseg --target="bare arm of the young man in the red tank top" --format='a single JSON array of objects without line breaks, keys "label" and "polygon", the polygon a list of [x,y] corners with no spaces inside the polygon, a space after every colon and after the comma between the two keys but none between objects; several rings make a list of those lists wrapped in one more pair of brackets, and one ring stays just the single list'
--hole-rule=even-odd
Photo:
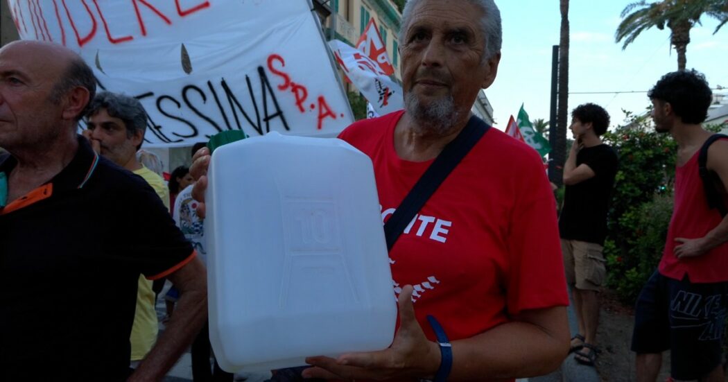
[{"label": "bare arm of the young man in the red tank top", "polygon": [[[721,179],[724,190],[728,190],[728,142],[718,140],[708,148],[708,170],[715,171]],[[728,242],[728,215],[723,218],[708,234],[697,239],[686,239],[678,237],[676,242],[681,242],[675,246],[675,255],[677,258],[687,258],[692,256],[703,255],[719,245]]]}]

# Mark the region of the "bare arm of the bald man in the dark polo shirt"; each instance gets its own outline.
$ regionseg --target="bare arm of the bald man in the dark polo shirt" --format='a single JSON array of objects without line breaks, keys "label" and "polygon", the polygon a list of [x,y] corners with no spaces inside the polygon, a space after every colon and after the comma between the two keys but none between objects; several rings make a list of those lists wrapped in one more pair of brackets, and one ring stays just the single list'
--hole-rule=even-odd
[{"label": "bare arm of the bald man in the dark polo shirt", "polygon": [[168,278],[180,291],[175,314],[129,381],[162,381],[207,319],[207,274],[202,261],[193,258]]}]

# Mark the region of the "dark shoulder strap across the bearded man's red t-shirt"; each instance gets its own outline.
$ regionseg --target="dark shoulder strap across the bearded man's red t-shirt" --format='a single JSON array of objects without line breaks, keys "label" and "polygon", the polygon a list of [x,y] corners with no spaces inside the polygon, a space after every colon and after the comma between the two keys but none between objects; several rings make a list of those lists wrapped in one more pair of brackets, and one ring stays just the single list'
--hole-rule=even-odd
[{"label": "dark shoulder strap across the bearded man's red t-shirt", "polygon": [[443,151],[435,158],[435,161],[427,167],[422,177],[417,180],[414,187],[405,196],[395,213],[389,217],[387,223],[384,224],[384,236],[387,238],[387,250],[392,250],[392,246],[400,237],[400,234],[408,226],[414,215],[419,212],[427,199],[435,193],[443,180],[448,177],[450,172],[460,163],[460,161],[470,152],[470,149],[478,143],[480,137],[486,134],[490,126],[483,122],[477,116],[471,116],[464,129],[445,146]]}]

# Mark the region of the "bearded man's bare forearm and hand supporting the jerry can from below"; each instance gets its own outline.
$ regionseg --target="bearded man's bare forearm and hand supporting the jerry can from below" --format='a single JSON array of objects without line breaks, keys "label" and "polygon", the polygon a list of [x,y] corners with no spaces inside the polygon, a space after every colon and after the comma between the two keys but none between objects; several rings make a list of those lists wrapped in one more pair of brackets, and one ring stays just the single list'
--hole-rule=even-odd
[{"label": "bearded man's bare forearm and hand supporting the jerry can from below", "polygon": [[[424,337],[414,318],[411,286],[400,294],[400,330],[389,349],[311,357],[306,378],[432,378],[440,365],[438,345]],[[543,375],[555,370],[569,351],[569,325],[563,306],[524,311],[513,322],[452,342],[448,381]]]}]

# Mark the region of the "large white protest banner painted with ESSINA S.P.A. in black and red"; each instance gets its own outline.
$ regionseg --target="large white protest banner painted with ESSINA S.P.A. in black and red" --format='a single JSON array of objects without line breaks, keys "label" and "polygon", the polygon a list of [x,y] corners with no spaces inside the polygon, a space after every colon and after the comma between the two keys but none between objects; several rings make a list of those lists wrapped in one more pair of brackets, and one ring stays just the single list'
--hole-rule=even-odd
[{"label": "large white protest banner painted with ESSINA S.P.A. in black and red", "polygon": [[[141,100],[147,147],[223,130],[334,136],[353,116],[309,0],[8,0],[21,39]],[[52,59],[52,57],[49,57]]]}]

